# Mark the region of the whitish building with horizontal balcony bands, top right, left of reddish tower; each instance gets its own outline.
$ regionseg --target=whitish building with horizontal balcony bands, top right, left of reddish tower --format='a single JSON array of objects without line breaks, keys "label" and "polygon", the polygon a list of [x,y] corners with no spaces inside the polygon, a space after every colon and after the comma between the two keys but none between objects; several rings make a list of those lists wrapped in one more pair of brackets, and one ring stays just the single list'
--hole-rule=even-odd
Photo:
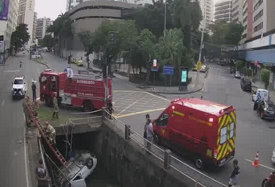
[{"label": "whitish building with horizontal balcony bands, top right, left of reddish tower", "polygon": [[215,3],[215,21],[231,22],[232,0],[219,0]]}]

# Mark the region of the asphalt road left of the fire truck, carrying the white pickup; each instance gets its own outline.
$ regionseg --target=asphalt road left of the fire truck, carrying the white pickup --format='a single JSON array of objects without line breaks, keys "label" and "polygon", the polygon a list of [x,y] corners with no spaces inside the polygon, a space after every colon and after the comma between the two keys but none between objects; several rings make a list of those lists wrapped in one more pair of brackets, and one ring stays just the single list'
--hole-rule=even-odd
[{"label": "asphalt road left of the fire truck, carrying the white pickup", "polygon": [[[60,58],[45,55],[47,62],[54,70],[63,71],[68,65]],[[19,60],[23,65],[19,68]],[[32,96],[32,79],[37,81],[46,66],[28,59],[28,55],[19,53],[9,57],[5,66],[0,66],[0,187],[30,186],[28,153],[24,142],[24,115],[22,100],[11,99],[12,81],[16,75],[24,75],[28,84],[27,94]],[[73,69],[79,69],[73,65]],[[28,177],[26,177],[28,176]]]}]

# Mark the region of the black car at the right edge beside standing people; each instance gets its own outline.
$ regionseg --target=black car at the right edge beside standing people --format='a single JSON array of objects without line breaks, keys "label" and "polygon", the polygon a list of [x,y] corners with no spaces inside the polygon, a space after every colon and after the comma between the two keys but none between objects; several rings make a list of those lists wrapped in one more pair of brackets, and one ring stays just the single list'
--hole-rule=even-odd
[{"label": "black car at the right edge beside standing people", "polygon": [[275,120],[275,105],[271,100],[260,101],[260,106],[258,107],[258,112],[262,119]]}]

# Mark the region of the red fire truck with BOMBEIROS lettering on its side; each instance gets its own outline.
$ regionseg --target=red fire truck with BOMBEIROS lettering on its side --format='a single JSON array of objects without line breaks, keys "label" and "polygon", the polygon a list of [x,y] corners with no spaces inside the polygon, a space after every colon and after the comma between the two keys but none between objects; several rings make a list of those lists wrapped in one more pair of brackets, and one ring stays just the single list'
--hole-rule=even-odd
[{"label": "red fire truck with BOMBEIROS lettering on its side", "polygon": [[66,72],[45,70],[40,74],[40,100],[46,105],[52,105],[54,92],[57,93],[59,104],[69,104],[83,107],[84,111],[101,109],[106,106],[106,94],[112,100],[111,79],[101,76],[74,74],[67,76]]}]

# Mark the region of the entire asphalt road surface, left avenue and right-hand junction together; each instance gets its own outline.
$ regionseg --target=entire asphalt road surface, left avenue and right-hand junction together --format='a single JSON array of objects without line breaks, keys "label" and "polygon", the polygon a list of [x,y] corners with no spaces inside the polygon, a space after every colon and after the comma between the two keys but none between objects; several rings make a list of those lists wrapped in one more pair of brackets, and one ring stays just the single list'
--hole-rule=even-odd
[{"label": "entire asphalt road surface, left avenue and right-hand junction together", "polygon": [[[19,69],[18,59],[24,58],[23,67]],[[44,59],[51,68],[63,71],[67,67],[67,61],[58,57],[45,54]],[[25,75],[28,80],[28,92],[31,93],[31,79],[38,80],[41,71],[46,67],[28,60],[27,56],[10,58],[6,66],[0,67],[0,145],[1,152],[1,178],[0,186],[27,186],[24,143],[23,109],[20,100],[11,100],[11,82],[15,75]],[[73,69],[79,69],[73,66]],[[165,97],[145,93],[130,83],[128,78],[118,76],[113,81],[114,90],[114,114],[124,123],[131,125],[139,134],[143,134],[145,114],[150,113],[155,119],[168,106],[169,101],[175,97],[200,97],[206,100],[216,101],[222,104],[233,104],[237,109],[237,134],[236,134],[236,159],[241,168],[241,185],[260,186],[264,177],[272,171],[271,154],[274,149],[275,123],[264,121],[253,112],[251,94],[241,91],[240,80],[234,79],[225,67],[210,65],[208,77],[201,91],[187,95],[165,95]],[[37,95],[39,87],[37,87]],[[7,143],[9,142],[9,143]],[[255,158],[255,152],[260,151],[259,168],[253,168],[251,162]],[[173,152],[177,158],[186,161],[194,167],[190,160]],[[26,158],[27,159],[27,158]],[[218,181],[227,184],[232,164],[226,164],[222,168],[207,169],[203,171]],[[14,177],[16,176],[16,177]],[[197,177],[197,175],[196,175]]]}]

